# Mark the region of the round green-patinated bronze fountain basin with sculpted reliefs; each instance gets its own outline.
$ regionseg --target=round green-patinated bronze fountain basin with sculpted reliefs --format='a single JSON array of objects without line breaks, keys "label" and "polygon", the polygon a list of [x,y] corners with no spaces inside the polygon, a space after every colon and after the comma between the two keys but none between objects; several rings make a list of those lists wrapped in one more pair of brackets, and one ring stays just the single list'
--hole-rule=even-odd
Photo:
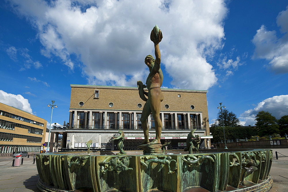
[{"label": "round green-patinated bronze fountain basin with sculpted reliefs", "polygon": [[270,149],[41,153],[41,191],[268,191]]}]

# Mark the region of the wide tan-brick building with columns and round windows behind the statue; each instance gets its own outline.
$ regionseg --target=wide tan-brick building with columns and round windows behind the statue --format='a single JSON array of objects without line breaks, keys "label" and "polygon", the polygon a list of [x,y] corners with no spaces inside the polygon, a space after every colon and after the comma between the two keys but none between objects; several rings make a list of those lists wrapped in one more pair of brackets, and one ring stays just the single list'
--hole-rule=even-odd
[{"label": "wide tan-brick building with columns and round windows behind the statue", "polygon": [[[207,91],[162,88],[161,142],[171,141],[168,149],[183,149],[187,134],[196,129],[194,135],[201,138],[200,147],[206,147],[212,138],[209,131]],[[117,150],[118,130],[124,131],[124,150],[137,150],[143,140],[141,113],[145,102],[139,97],[137,87],[71,85],[69,123],[54,126],[51,140],[63,135],[62,148],[84,149],[92,140],[92,149]],[[152,115],[148,118],[149,136],[155,137]],[[50,149],[51,150],[51,149]]]}]

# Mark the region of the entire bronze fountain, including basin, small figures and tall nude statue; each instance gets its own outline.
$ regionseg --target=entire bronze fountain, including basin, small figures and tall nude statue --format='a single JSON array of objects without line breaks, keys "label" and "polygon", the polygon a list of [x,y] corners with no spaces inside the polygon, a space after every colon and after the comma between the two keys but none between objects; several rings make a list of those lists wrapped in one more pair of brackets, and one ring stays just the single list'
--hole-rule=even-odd
[{"label": "entire bronze fountain, including basin, small figures and tall nude statue", "polygon": [[[146,101],[141,115],[145,139],[138,146],[143,155],[137,155],[139,151],[123,150],[122,130],[119,130],[120,136],[112,139],[118,140],[120,152],[116,155],[107,155],[115,154],[111,151],[91,153],[91,140],[87,142],[87,152],[37,154],[40,177],[37,187],[41,191],[57,192],[268,191],[272,187],[269,172],[273,157],[269,149],[201,150],[200,138],[194,136],[195,130],[192,130],[187,136],[185,150],[162,152],[161,148],[169,143],[162,145],[160,142],[163,74],[159,43],[162,32],[157,25],[151,31],[150,39],[154,43],[156,58],[151,55],[145,58],[150,71],[146,85],[137,82],[139,95]],[[147,118],[151,113],[156,125],[156,139],[150,142]]]}]

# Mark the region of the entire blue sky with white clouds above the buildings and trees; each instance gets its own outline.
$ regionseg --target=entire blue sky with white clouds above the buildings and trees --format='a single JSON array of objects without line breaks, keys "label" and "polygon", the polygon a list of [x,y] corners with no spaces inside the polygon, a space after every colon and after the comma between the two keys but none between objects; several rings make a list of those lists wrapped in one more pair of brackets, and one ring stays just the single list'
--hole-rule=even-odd
[{"label": "entire blue sky with white clouds above the buildings and trees", "polygon": [[[157,24],[163,87],[208,90],[253,125],[288,115],[287,1],[1,1],[0,102],[69,121],[70,84],[137,86]],[[193,104],[193,101],[191,101]]]}]

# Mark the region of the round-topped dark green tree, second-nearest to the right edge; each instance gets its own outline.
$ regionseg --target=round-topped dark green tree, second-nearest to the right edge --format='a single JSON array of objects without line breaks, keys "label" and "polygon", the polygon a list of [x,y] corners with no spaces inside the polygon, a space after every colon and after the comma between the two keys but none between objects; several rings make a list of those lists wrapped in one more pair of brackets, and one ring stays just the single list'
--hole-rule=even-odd
[{"label": "round-topped dark green tree, second-nearest to the right edge", "polygon": [[279,126],[276,124],[277,119],[268,111],[259,111],[256,115],[255,123],[259,136],[279,134]]}]

